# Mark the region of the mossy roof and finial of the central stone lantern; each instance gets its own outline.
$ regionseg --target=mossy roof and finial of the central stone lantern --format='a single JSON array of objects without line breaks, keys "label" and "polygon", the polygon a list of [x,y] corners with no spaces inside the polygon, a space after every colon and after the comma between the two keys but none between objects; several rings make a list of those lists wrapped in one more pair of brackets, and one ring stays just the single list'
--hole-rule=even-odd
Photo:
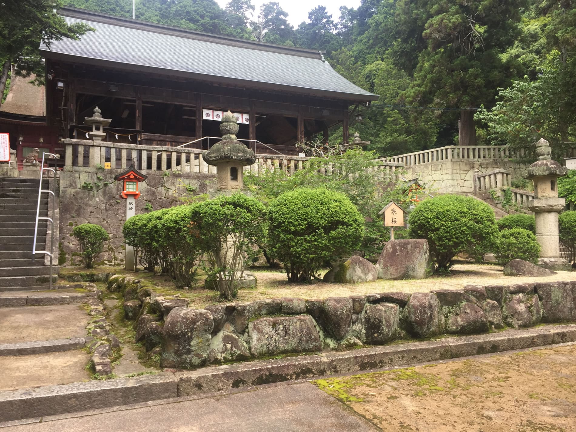
[{"label": "mossy roof and finial of the central stone lantern", "polygon": [[240,162],[242,165],[252,165],[256,162],[254,152],[236,139],[238,123],[236,123],[236,117],[232,112],[228,111],[222,116],[220,132],[222,133],[222,141],[218,141],[211,149],[204,151],[203,157],[207,164]]}]

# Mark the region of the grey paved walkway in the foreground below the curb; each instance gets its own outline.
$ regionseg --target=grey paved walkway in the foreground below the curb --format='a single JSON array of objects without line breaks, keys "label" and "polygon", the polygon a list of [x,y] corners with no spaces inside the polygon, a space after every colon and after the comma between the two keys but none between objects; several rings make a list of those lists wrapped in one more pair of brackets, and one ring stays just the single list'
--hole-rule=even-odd
[{"label": "grey paved walkway in the foreground below the curb", "polygon": [[308,382],[104,414],[84,413],[2,432],[377,432]]}]

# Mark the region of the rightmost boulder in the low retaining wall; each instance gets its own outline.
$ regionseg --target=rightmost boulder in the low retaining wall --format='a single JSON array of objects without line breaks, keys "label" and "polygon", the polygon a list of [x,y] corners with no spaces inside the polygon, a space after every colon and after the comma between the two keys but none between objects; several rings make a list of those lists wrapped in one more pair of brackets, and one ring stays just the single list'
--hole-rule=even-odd
[{"label": "rightmost boulder in the low retaining wall", "polygon": [[576,319],[572,287],[568,283],[536,283],[535,290],[542,301],[543,321],[561,323]]}]

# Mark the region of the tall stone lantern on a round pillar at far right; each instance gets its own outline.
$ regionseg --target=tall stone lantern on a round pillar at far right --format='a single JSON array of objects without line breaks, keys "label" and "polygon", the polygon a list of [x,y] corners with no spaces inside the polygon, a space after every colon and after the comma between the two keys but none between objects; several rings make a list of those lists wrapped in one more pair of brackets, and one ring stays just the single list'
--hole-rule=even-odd
[{"label": "tall stone lantern on a round pillar at far right", "polygon": [[569,270],[570,264],[560,257],[558,237],[558,213],[566,206],[566,200],[558,198],[558,177],[565,176],[568,169],[553,161],[551,153],[548,141],[541,138],[536,143],[538,160],[528,167],[522,177],[534,181],[534,199],[528,201],[528,209],[536,217],[539,264],[552,270]]}]

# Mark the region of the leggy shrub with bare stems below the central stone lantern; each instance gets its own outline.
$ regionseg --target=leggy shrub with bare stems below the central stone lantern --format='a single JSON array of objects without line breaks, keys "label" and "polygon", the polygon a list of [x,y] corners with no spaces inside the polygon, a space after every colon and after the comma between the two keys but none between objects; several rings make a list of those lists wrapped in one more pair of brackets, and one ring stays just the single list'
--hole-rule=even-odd
[{"label": "leggy shrub with bare stems below the central stone lantern", "polygon": [[260,235],[265,216],[259,200],[242,194],[219,196],[192,206],[190,235],[206,252],[208,277],[214,279],[221,298],[236,297],[249,239]]}]

